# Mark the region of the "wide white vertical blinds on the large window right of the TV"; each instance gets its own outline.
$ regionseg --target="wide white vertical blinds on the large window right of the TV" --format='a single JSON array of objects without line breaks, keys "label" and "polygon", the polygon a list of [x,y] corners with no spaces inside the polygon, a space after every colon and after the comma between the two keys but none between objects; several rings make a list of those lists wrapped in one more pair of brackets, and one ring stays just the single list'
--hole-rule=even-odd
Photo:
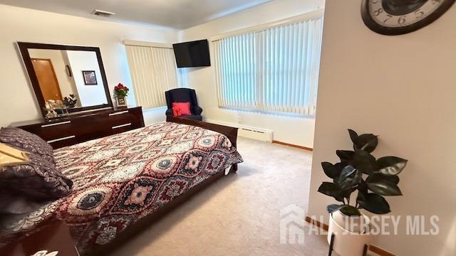
[{"label": "wide white vertical blinds on the large window right of the TV", "polygon": [[323,18],[214,41],[220,107],[314,114]]}]

